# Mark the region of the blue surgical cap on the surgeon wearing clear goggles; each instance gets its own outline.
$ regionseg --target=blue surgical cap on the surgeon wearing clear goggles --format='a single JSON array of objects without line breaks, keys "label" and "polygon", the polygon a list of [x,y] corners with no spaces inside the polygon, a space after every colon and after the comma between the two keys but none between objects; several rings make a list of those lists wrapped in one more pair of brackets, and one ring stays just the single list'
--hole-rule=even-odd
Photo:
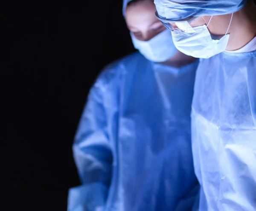
[{"label": "blue surgical cap on the surgeon wearing clear goggles", "polygon": [[246,2],[247,0],[154,0],[159,16],[169,20],[230,14],[242,9]]}]

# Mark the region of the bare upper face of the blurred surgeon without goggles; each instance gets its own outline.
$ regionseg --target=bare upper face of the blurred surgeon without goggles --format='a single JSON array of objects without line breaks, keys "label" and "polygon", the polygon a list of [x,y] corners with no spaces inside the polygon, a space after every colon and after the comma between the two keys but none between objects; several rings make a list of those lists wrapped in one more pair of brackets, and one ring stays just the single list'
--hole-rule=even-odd
[{"label": "bare upper face of the blurred surgeon without goggles", "polygon": [[166,29],[155,17],[155,12],[156,7],[151,0],[144,0],[127,7],[126,24],[138,40],[148,41]]}]

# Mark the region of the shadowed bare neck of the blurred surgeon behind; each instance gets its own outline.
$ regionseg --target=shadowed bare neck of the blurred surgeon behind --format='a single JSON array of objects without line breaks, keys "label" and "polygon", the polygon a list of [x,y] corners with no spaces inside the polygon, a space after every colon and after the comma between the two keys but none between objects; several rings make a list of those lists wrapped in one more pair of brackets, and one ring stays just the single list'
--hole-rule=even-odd
[{"label": "shadowed bare neck of the blurred surgeon behind", "polygon": [[187,64],[191,64],[194,61],[196,61],[196,58],[185,55],[180,51],[177,51],[177,53],[172,58],[169,58],[167,61],[161,62],[160,64],[180,68],[182,66],[186,66]]}]

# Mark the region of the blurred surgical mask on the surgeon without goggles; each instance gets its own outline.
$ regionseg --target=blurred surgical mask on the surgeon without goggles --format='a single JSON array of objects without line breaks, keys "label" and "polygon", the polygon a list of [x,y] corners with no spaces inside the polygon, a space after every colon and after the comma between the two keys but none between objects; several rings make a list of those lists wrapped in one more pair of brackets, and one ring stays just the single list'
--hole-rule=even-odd
[{"label": "blurred surgical mask on the surgeon without goggles", "polygon": [[148,41],[138,40],[131,32],[131,40],[134,48],[138,49],[150,61],[164,62],[172,58],[177,52],[172,41],[172,33],[167,29]]}]

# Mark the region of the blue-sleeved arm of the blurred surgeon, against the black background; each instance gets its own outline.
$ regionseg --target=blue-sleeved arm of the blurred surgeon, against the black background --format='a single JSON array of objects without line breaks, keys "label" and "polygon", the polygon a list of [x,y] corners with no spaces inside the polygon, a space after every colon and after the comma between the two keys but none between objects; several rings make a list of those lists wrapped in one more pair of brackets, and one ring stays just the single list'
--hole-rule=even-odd
[{"label": "blue-sleeved arm of the blurred surgeon, against the black background", "polygon": [[82,186],[70,189],[68,211],[76,210],[78,206],[94,210],[107,198],[112,152],[101,87],[96,82],[90,90],[75,136],[73,154]]}]

